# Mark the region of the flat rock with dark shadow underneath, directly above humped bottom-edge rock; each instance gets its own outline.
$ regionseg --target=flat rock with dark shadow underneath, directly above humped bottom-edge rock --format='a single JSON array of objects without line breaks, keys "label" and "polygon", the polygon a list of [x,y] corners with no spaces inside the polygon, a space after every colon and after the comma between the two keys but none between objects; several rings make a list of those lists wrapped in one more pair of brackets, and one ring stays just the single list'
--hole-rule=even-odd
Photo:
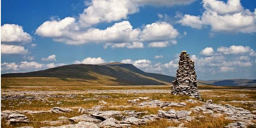
[{"label": "flat rock with dark shadow underneath, directly above humped bottom-edge rock", "polygon": [[122,112],[121,111],[99,111],[91,114],[91,116],[101,120],[105,120],[111,117],[117,117],[117,116],[122,117]]}]

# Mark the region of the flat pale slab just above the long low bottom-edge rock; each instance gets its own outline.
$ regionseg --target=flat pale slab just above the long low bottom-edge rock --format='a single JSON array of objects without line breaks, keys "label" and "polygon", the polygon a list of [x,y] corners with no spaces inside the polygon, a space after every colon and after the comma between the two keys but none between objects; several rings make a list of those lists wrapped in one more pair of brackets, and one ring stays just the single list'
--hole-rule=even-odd
[{"label": "flat pale slab just above the long low bottom-edge rock", "polygon": [[92,117],[89,117],[87,115],[75,116],[75,117],[70,118],[69,120],[71,122],[84,121],[84,122],[93,122],[93,123],[96,123],[96,124],[99,124],[99,123],[102,122],[100,119],[92,118]]}]

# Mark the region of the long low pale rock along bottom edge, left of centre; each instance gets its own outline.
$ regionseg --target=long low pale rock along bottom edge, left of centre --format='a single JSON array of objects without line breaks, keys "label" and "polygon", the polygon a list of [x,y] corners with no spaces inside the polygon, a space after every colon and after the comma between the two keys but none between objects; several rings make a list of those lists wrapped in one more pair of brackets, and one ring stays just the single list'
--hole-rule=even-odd
[{"label": "long low pale rock along bottom edge, left of centre", "polygon": [[47,126],[47,127],[41,127],[41,128],[99,128],[98,125],[92,123],[92,122],[78,122],[77,124],[70,124],[70,125],[61,125],[61,126]]}]

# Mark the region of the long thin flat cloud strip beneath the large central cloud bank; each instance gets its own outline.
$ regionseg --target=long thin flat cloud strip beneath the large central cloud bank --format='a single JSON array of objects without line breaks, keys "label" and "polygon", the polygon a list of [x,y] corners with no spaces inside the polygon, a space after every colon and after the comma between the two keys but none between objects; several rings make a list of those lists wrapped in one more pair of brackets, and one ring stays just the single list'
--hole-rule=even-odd
[{"label": "long thin flat cloud strip beneath the large central cloud bank", "polygon": [[111,47],[111,48],[128,48],[128,49],[134,49],[134,48],[143,48],[144,45],[142,42],[132,42],[132,43],[107,43],[105,44],[104,48],[108,48],[108,47]]}]

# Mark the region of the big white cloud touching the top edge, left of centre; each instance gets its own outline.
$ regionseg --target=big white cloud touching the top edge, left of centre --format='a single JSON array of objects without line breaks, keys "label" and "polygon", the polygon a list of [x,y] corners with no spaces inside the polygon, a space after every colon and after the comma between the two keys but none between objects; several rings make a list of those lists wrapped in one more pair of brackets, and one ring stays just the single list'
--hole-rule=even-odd
[{"label": "big white cloud touching the top edge, left of centre", "polygon": [[129,14],[139,11],[138,6],[129,0],[92,0],[90,4],[79,16],[81,26],[127,19]]}]

